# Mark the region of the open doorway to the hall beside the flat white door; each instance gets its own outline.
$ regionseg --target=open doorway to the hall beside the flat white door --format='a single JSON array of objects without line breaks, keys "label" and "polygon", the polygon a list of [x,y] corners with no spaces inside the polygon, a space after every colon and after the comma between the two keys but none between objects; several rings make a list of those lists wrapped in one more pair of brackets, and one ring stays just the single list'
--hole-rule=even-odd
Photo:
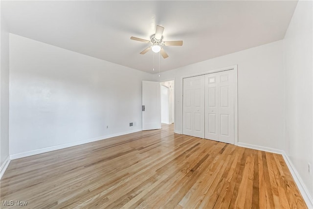
[{"label": "open doorway to the hall beside the flat white door", "polygon": [[174,80],[161,82],[161,123],[174,123]]}]

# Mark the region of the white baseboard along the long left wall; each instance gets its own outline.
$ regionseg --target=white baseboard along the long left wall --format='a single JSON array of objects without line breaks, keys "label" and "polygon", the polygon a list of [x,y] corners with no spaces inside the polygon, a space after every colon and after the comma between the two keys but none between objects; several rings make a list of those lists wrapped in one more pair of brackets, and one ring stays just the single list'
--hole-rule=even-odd
[{"label": "white baseboard along the long left wall", "polygon": [[125,131],[125,132],[121,132],[121,133],[117,133],[117,134],[106,135],[106,136],[102,136],[102,137],[96,137],[96,138],[92,138],[92,139],[85,139],[85,140],[70,142],[70,143],[66,143],[66,144],[60,144],[60,145],[56,145],[56,146],[45,147],[45,148],[42,148],[42,149],[36,149],[36,150],[32,150],[32,151],[17,153],[17,154],[10,155],[10,159],[14,160],[14,159],[23,158],[23,157],[27,157],[27,156],[31,156],[31,155],[37,155],[37,154],[41,154],[41,153],[45,153],[45,152],[58,150],[58,149],[64,149],[64,148],[67,148],[67,147],[72,147],[72,146],[77,146],[77,145],[81,145],[81,144],[86,144],[86,143],[93,142],[93,141],[98,141],[98,140],[102,140],[102,139],[109,139],[109,138],[112,138],[112,137],[118,137],[118,136],[122,136],[122,135],[125,135],[125,134],[131,134],[131,133],[138,132],[138,131],[142,131],[142,129],[135,129],[135,130]]}]

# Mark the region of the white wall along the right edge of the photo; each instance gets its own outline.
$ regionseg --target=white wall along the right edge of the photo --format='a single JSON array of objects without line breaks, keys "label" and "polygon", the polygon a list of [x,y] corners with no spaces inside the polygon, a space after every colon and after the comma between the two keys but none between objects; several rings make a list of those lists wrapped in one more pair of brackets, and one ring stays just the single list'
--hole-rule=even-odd
[{"label": "white wall along the right edge of the photo", "polygon": [[[312,1],[298,1],[284,39],[286,153],[313,198]],[[311,163],[311,174],[308,172]]]}]

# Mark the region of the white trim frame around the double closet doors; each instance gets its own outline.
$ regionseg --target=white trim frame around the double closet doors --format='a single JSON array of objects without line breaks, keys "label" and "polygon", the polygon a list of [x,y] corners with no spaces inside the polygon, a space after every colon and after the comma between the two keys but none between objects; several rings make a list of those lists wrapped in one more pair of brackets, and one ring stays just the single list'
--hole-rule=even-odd
[{"label": "white trim frame around the double closet doors", "polygon": [[[209,71],[204,71],[204,72],[199,72],[199,73],[193,73],[189,75],[184,75],[180,77],[180,90],[181,90],[181,95],[179,100],[181,101],[181,134],[183,134],[183,79],[184,78],[190,78],[190,77],[195,77],[199,75],[205,75],[205,74],[211,74],[215,72],[222,72],[226,70],[234,70],[234,145],[238,145],[238,80],[237,80],[237,65],[226,67],[226,68],[221,68],[221,69],[215,69],[215,70],[209,70]],[[174,118],[176,116],[174,115]],[[177,121],[175,119],[175,121]]]}]

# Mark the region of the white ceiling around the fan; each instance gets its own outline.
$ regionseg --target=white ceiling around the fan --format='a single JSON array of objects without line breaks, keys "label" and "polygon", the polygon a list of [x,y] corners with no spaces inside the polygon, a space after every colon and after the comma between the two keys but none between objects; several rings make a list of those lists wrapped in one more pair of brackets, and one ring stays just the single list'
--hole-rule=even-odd
[{"label": "white ceiling around the fan", "polygon": [[[297,1],[2,1],[11,33],[153,73],[139,52],[165,27],[160,71],[283,39]],[[158,69],[157,54],[155,67]]]}]

